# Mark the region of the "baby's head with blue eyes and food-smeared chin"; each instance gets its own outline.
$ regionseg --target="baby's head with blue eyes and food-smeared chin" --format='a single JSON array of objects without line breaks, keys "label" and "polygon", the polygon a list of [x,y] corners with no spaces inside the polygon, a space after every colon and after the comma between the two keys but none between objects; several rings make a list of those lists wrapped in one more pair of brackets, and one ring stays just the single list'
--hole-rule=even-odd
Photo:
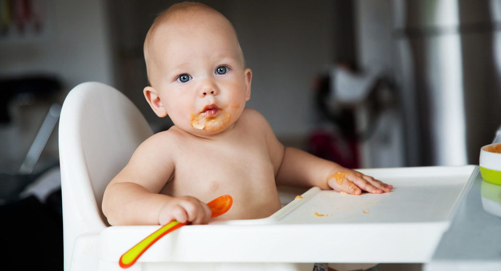
[{"label": "baby's head with blue eyes and food-smeared chin", "polygon": [[150,87],[144,96],[159,117],[189,133],[231,128],[250,98],[252,72],[231,23],[198,3],[161,13],[144,41]]}]

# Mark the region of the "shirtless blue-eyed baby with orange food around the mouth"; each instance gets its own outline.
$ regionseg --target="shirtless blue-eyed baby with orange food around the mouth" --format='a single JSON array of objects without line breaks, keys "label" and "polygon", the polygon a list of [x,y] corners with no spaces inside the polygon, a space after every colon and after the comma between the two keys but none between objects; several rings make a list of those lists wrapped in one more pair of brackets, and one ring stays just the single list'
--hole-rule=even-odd
[{"label": "shirtless blue-eyed baby with orange food around the mouth", "polygon": [[103,212],[112,225],[207,223],[205,204],[231,195],[217,219],[253,219],[281,208],[277,185],[318,186],[353,195],[391,185],[295,148],[245,108],[252,71],[231,23],[217,11],[181,3],[160,14],[144,42],[151,87],[144,96],[174,126],[144,141],[110,182]]}]

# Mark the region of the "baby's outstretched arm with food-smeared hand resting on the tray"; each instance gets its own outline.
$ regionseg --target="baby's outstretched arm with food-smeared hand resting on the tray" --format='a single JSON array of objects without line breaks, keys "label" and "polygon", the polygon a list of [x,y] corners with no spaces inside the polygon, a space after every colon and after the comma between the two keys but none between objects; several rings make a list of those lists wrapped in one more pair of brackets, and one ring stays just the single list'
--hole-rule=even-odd
[{"label": "baby's outstretched arm with food-smeared hand resting on the tray", "polygon": [[[360,195],[362,190],[370,193],[390,192],[392,185],[375,180],[371,176],[342,167],[302,150],[284,147],[273,133],[268,122],[263,118],[270,158],[275,167],[275,180],[278,185],[296,187],[318,186],[321,189],[334,189],[353,195]],[[346,172],[336,181],[337,172]],[[339,174],[338,174],[339,175]],[[344,175],[344,176],[343,176]]]}]

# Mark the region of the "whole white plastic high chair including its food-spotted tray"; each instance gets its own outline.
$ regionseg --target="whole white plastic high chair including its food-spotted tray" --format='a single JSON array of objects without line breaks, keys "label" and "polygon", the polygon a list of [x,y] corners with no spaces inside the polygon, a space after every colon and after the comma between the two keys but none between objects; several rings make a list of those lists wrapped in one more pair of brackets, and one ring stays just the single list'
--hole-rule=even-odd
[{"label": "whole white plastic high chair including its food-spotted tray", "polygon": [[[120,255],[159,227],[109,226],[101,211],[104,189],[151,135],[139,110],[112,87],[84,83],[66,98],[59,125],[65,270],[121,270]],[[477,169],[360,170],[394,185],[384,194],[279,187],[285,206],[272,216],[184,226],[129,270],[310,271],[313,262],[427,262]]]}]

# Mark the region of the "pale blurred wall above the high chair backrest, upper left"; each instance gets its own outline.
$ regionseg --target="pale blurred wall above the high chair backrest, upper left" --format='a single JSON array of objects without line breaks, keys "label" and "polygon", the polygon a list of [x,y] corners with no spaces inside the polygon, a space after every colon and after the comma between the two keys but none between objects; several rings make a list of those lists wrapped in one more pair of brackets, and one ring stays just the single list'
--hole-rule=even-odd
[{"label": "pale blurred wall above the high chair backrest, upper left", "polygon": [[49,37],[34,43],[0,43],[0,74],[54,73],[66,88],[86,81],[113,85],[103,0],[48,1]]}]

